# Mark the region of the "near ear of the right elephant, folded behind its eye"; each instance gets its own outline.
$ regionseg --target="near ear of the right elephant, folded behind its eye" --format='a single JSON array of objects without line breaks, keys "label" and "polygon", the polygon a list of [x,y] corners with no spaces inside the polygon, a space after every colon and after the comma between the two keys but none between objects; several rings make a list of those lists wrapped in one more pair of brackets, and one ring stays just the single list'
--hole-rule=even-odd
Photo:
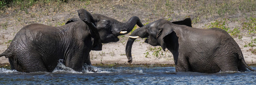
[{"label": "near ear of the right elephant, folded behind its eye", "polygon": [[165,51],[166,43],[164,42],[164,37],[171,34],[173,32],[173,28],[169,24],[164,24],[162,28],[157,33],[157,41],[162,46],[163,50]]}]

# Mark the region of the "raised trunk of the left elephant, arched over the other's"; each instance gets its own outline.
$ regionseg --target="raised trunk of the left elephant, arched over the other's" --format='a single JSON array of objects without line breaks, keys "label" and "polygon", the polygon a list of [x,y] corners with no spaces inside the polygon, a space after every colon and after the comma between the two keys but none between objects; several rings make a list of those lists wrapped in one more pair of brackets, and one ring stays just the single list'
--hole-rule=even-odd
[{"label": "raised trunk of the left elephant, arched over the other's", "polygon": [[128,34],[129,32],[132,31],[133,27],[135,25],[138,25],[139,27],[144,26],[141,21],[140,18],[138,18],[137,16],[133,16],[132,18],[130,18],[127,22],[122,23],[122,27],[121,27],[121,31],[126,31],[125,33],[122,33],[120,35],[125,35]]}]

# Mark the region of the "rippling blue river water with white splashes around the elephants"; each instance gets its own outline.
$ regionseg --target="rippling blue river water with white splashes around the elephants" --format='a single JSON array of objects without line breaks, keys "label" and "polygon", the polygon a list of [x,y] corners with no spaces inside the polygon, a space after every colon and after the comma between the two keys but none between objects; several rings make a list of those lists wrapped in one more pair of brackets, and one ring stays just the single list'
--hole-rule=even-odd
[{"label": "rippling blue river water with white splashes around the elephants", "polygon": [[[22,73],[0,68],[0,84],[256,84],[256,72],[205,74],[175,72],[175,67],[93,67],[76,72],[59,66],[52,73]],[[252,67],[256,69],[256,67]]]}]

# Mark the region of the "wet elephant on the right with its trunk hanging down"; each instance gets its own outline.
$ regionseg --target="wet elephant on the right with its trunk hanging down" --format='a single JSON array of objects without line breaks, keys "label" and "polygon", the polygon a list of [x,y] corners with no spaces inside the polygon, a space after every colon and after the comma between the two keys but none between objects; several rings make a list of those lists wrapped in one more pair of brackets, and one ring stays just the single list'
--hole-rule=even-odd
[{"label": "wet elephant on the right with its trunk hanging down", "polygon": [[128,63],[132,62],[131,49],[136,38],[147,38],[151,46],[167,48],[172,54],[176,72],[217,73],[246,71],[250,68],[244,61],[236,41],[220,28],[199,29],[177,25],[159,19],[132,32],[125,52]]}]

